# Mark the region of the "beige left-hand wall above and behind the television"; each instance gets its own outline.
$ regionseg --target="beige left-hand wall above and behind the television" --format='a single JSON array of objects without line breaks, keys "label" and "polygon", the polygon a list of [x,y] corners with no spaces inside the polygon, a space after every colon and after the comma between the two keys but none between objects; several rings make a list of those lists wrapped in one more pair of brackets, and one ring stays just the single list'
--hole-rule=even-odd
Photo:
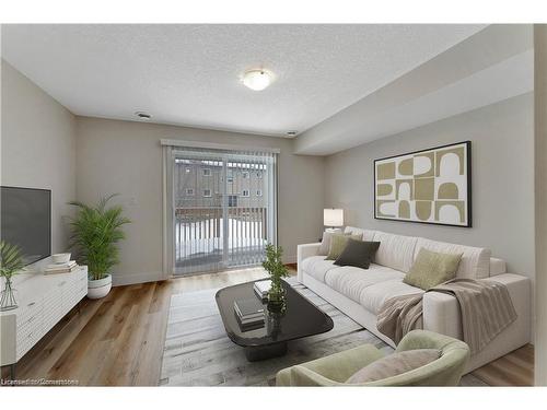
[{"label": "beige left-hand wall above and behind the television", "polygon": [[51,189],[51,251],[67,249],[75,199],[75,117],[1,60],[1,184]]}]

